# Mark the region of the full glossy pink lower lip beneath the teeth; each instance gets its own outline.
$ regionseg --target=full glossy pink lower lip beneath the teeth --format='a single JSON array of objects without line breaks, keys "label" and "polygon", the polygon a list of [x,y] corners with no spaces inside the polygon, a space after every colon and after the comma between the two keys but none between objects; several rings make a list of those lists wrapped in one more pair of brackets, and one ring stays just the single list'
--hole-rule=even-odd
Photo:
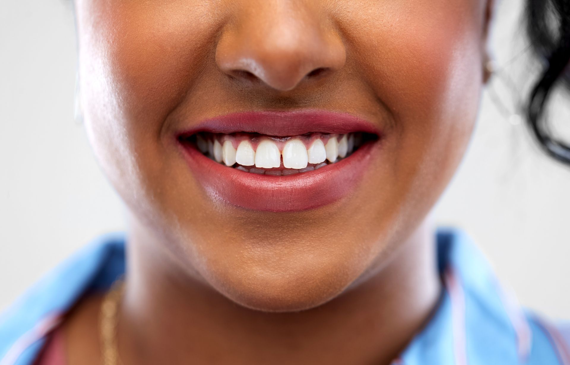
[{"label": "full glossy pink lower lip beneath the teeth", "polygon": [[178,145],[210,198],[256,211],[295,212],[334,203],[354,191],[378,143],[367,142],[339,162],[287,177],[240,171],[206,157],[193,144]]}]

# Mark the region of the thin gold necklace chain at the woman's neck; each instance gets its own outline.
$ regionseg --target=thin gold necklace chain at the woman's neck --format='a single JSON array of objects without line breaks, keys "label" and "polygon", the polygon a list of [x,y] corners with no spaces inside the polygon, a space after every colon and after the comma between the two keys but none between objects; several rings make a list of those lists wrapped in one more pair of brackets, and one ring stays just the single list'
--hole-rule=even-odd
[{"label": "thin gold necklace chain at the woman's neck", "polygon": [[124,280],[117,279],[101,303],[99,330],[103,365],[122,364],[117,351],[117,317],[124,287]]}]

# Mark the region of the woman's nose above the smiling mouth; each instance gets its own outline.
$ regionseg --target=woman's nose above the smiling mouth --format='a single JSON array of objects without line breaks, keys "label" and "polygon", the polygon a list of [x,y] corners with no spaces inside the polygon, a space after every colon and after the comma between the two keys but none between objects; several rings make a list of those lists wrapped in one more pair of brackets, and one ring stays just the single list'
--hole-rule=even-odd
[{"label": "woman's nose above the smiling mouth", "polygon": [[[292,3],[295,3],[293,6]],[[318,1],[234,1],[233,16],[216,48],[218,68],[241,81],[289,91],[343,67],[346,50]]]}]

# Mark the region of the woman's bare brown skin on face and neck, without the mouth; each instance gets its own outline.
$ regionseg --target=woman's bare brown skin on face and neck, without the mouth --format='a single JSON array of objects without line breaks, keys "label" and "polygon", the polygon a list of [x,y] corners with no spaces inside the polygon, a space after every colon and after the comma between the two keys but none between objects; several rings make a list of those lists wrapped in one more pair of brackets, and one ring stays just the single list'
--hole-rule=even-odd
[{"label": "woman's bare brown skin on face and neck, without the mouth", "polygon": [[[390,363],[441,294],[429,212],[475,124],[491,3],[75,7],[87,133],[129,212],[123,363]],[[172,143],[204,118],[300,108],[385,135],[356,190],[315,210],[214,202]],[[70,364],[101,362],[100,301],[65,322]]]}]

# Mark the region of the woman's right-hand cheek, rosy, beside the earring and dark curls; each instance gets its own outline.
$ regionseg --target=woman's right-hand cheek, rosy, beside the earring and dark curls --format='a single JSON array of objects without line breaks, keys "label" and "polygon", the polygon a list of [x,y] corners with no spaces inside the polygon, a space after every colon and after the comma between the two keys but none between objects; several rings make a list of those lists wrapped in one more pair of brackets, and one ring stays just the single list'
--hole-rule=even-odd
[{"label": "woman's right-hand cheek, rosy, beside the earring and dark curls", "polygon": [[[469,142],[482,87],[483,2],[417,1],[386,5],[353,33],[359,68],[389,110],[382,181],[398,206],[431,206]],[[411,195],[411,196],[410,196]],[[407,202],[406,202],[406,198]],[[404,203],[402,203],[404,201]]]}]

